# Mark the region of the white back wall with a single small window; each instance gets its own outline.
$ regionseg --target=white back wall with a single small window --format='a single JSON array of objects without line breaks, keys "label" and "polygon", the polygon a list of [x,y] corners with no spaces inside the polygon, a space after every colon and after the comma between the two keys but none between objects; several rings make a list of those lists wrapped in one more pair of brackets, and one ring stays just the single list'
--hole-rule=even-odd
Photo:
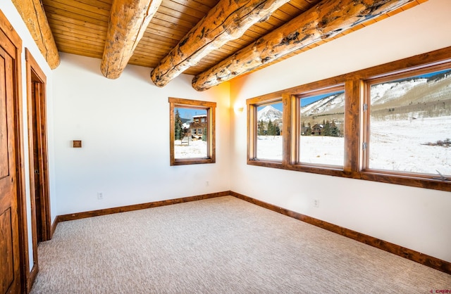
[{"label": "white back wall with a single small window", "polygon": [[[191,79],[180,75],[158,88],[149,68],[132,65],[106,79],[99,59],[61,53],[54,70],[59,215],[230,189],[229,84],[197,92]],[[168,97],[217,103],[216,163],[170,166]],[[73,140],[82,148],[71,148]]]}]

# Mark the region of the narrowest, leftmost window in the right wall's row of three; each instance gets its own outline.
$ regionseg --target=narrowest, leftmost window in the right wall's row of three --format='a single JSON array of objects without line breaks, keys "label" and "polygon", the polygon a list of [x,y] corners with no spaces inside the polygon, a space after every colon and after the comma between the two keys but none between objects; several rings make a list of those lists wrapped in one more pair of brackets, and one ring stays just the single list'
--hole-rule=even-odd
[{"label": "narrowest, leftmost window in the right wall's row of three", "polygon": [[271,102],[253,104],[253,136],[249,158],[251,160],[283,160],[283,103],[282,98]]}]

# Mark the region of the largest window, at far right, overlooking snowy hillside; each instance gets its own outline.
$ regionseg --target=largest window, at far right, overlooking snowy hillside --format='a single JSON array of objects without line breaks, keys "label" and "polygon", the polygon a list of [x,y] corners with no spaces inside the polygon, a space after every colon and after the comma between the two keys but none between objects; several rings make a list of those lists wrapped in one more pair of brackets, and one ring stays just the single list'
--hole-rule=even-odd
[{"label": "largest window, at far right, overlooking snowy hillside", "polygon": [[451,66],[447,66],[367,83],[366,170],[450,177]]}]

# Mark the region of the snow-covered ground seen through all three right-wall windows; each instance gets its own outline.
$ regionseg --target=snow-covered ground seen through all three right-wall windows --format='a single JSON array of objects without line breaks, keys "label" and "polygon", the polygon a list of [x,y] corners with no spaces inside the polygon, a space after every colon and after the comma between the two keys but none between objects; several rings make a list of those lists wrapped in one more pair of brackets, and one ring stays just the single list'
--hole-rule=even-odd
[{"label": "snow-covered ground seen through all three right-wall windows", "polygon": [[[451,147],[428,146],[451,139],[451,116],[371,122],[369,167],[451,175]],[[282,136],[259,136],[257,157],[282,159]],[[301,136],[301,162],[343,165],[344,138]]]}]

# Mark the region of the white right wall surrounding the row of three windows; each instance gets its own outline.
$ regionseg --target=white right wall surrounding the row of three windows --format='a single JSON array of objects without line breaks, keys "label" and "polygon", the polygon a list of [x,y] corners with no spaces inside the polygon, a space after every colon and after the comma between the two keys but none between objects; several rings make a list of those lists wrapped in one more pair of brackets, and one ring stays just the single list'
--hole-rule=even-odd
[{"label": "white right wall surrounding the row of three windows", "polygon": [[[230,103],[451,46],[450,13],[429,0],[235,79]],[[451,193],[246,165],[245,116],[231,112],[231,191],[451,262]]]}]

